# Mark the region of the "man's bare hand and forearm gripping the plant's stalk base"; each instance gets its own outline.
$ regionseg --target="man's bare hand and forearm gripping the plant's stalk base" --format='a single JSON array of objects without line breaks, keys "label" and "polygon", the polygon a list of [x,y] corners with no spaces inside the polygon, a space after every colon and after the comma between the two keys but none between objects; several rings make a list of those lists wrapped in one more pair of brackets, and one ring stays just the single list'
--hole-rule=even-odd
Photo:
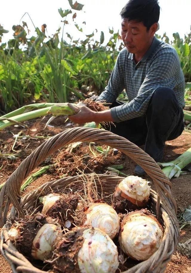
[{"label": "man's bare hand and forearm gripping the plant's stalk base", "polygon": [[69,119],[71,119],[71,121],[75,123],[84,124],[86,122],[92,121],[96,123],[103,121],[113,121],[110,109],[101,112],[95,112],[90,110],[86,106],[78,106],[78,108],[80,108],[78,114],[68,116]]}]

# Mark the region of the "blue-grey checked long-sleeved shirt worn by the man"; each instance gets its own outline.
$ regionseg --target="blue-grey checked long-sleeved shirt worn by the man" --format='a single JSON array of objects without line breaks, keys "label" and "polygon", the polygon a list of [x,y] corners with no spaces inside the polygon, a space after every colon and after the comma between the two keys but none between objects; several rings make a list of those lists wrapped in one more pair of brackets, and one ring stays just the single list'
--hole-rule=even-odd
[{"label": "blue-grey checked long-sleeved shirt worn by the man", "polygon": [[136,64],[133,54],[124,47],[118,54],[108,85],[97,100],[113,103],[126,89],[129,102],[111,108],[115,122],[143,116],[153,92],[159,87],[174,90],[184,108],[184,74],[174,47],[154,37],[150,48]]}]

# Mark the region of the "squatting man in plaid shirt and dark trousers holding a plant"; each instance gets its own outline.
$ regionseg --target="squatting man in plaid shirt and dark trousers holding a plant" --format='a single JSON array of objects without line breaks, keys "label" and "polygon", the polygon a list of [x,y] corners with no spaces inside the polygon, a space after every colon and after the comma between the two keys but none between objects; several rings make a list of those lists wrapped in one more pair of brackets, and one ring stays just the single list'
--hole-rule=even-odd
[{"label": "squatting man in plaid shirt and dark trousers holding a plant", "polygon": [[[120,51],[105,91],[98,100],[111,109],[94,112],[81,107],[70,116],[73,122],[114,122],[111,131],[140,146],[156,162],[163,158],[165,141],[184,129],[184,75],[176,50],[156,39],[160,7],[158,0],[130,0],[121,10]],[[128,103],[116,102],[126,89]],[[135,174],[144,170],[136,165]]]}]

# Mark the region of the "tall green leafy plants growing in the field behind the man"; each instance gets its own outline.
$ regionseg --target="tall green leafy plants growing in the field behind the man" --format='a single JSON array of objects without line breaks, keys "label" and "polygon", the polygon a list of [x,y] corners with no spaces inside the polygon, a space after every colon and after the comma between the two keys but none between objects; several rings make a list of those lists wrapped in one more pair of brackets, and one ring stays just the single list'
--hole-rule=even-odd
[{"label": "tall green leafy plants growing in the field behind the man", "polygon": [[[58,9],[62,25],[52,37],[45,33],[46,25],[43,25],[41,30],[34,26],[36,37],[27,38],[27,23],[22,22],[22,26],[13,26],[14,39],[3,44],[1,37],[8,30],[0,25],[0,111],[14,110],[25,104],[30,96],[35,100],[43,97],[47,102],[67,102],[74,97],[77,100],[83,97],[77,91],[82,85],[92,86],[98,94],[104,90],[119,50],[123,48],[121,37],[112,27],[109,28],[111,37],[106,46],[103,46],[103,31],[98,41],[94,39],[94,31],[97,30],[81,41],[73,40],[71,33],[66,33],[67,40],[64,40],[66,24],[73,24],[83,32],[76,17],[84,5],[72,0],[68,2],[71,9]],[[45,38],[48,41],[44,42]],[[185,80],[191,82],[191,32],[184,39],[174,33],[171,42],[166,33],[157,38],[175,47]],[[127,99],[125,94],[120,96],[123,100]],[[189,103],[190,89],[186,89],[185,99]]]}]

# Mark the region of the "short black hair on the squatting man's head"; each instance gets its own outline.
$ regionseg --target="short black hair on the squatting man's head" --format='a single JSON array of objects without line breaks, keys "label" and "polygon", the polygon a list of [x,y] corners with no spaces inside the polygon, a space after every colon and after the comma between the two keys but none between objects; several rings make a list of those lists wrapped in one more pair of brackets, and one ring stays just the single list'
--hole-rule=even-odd
[{"label": "short black hair on the squatting man's head", "polygon": [[122,19],[142,22],[149,30],[159,20],[158,0],[130,0],[121,10],[120,15]]}]

